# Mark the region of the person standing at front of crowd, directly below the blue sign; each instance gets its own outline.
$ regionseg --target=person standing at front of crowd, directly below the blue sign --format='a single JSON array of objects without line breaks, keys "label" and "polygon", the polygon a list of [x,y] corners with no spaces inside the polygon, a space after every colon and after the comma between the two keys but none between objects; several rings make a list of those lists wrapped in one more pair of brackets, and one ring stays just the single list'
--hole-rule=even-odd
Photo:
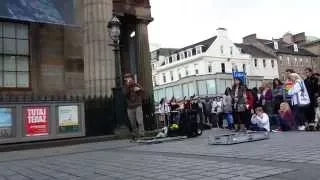
[{"label": "person standing at front of crowd, directly below the blue sign", "polygon": [[246,111],[246,88],[240,78],[234,78],[234,85],[231,91],[233,104],[233,119],[236,131],[246,131],[244,124]]}]

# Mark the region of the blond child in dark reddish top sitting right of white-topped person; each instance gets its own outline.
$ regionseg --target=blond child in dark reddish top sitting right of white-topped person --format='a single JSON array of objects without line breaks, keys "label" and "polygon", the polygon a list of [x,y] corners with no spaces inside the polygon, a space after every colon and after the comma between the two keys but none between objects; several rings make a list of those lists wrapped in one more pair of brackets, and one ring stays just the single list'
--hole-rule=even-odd
[{"label": "blond child in dark reddish top sitting right of white-topped person", "polygon": [[287,102],[283,102],[280,104],[279,117],[281,122],[281,129],[283,131],[296,129],[294,117]]}]

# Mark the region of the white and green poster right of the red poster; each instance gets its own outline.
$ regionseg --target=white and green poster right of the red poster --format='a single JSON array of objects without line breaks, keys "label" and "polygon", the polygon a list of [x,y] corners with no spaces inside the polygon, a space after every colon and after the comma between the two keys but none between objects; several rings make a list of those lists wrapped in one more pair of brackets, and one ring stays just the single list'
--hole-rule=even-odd
[{"label": "white and green poster right of the red poster", "polygon": [[59,132],[79,132],[78,106],[59,106]]}]

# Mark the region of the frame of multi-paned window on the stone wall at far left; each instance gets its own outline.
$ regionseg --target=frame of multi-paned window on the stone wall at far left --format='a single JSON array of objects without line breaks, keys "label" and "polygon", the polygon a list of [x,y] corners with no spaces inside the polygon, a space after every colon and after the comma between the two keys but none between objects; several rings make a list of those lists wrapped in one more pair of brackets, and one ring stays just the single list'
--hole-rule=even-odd
[{"label": "frame of multi-paned window on the stone wall at far left", "polygon": [[[0,56],[2,57],[2,66],[3,66],[3,69],[0,70],[0,76],[2,76],[2,82],[1,85],[0,85],[0,90],[17,90],[17,91],[29,91],[32,89],[32,78],[31,78],[31,40],[30,40],[30,24],[29,23],[24,23],[24,22],[10,22],[10,21],[5,21],[5,20],[1,20],[0,21],[1,25],[0,28],[2,30],[2,34],[0,34],[0,38],[2,39],[2,52],[0,52]],[[6,37],[4,35],[4,24],[13,24],[14,25],[14,34],[15,34],[15,37]],[[27,28],[27,37],[26,38],[21,38],[21,37],[18,37],[18,29],[17,29],[17,26],[25,26]],[[5,53],[4,52],[4,40],[5,39],[14,39],[15,43],[15,48],[16,48],[16,52],[15,53]],[[19,40],[26,40],[27,41],[27,44],[28,44],[28,51],[26,54],[19,54],[18,53],[18,41]],[[4,68],[4,57],[12,57],[14,56],[15,57],[15,71],[6,71],[5,68]],[[24,57],[27,59],[27,63],[28,63],[28,71],[19,71],[18,70],[18,64],[17,64],[17,57]],[[15,73],[15,87],[6,87],[4,82],[5,82],[5,72],[14,72]],[[19,73],[27,73],[28,74],[28,87],[19,87],[18,86],[18,74]]]}]

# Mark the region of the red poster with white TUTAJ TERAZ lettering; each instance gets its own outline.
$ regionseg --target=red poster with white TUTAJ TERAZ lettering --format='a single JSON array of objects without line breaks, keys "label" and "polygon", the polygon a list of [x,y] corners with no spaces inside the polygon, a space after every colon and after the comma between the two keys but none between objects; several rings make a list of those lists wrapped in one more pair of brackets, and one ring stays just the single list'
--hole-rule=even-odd
[{"label": "red poster with white TUTAJ TERAZ lettering", "polygon": [[26,136],[42,136],[48,135],[48,107],[26,107],[25,129]]}]

